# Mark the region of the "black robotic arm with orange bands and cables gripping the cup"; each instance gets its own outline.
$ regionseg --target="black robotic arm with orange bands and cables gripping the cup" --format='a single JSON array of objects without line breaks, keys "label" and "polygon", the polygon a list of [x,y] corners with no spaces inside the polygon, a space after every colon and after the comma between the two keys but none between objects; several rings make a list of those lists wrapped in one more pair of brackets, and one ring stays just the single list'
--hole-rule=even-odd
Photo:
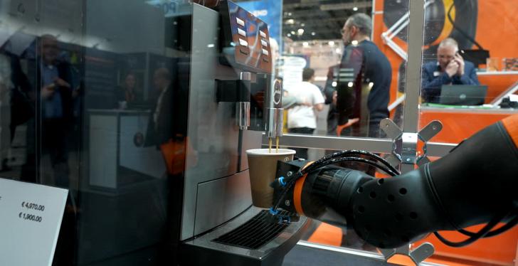
[{"label": "black robotic arm with orange bands and cables gripping the cup", "polygon": [[[371,164],[393,177],[376,179],[332,165],[340,161]],[[281,177],[289,171],[297,174]],[[482,129],[450,154],[406,174],[398,174],[375,154],[339,151],[312,164],[280,163],[277,177],[272,213],[280,207],[318,219],[332,208],[379,248],[400,247],[432,232],[447,245],[468,245],[518,222],[518,115]],[[506,224],[493,230],[500,222]],[[481,223],[487,225],[477,233],[462,229]],[[469,238],[452,243],[438,230],[459,230]]]}]

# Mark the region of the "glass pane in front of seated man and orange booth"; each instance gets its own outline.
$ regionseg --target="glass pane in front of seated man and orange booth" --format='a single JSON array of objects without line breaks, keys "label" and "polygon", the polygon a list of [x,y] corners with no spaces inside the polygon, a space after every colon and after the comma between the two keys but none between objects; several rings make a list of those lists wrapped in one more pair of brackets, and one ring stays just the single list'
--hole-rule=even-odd
[{"label": "glass pane in front of seated man and orange booth", "polygon": [[444,126],[432,142],[459,143],[517,113],[514,5],[501,2],[495,9],[485,1],[435,1],[426,10],[419,127]]}]

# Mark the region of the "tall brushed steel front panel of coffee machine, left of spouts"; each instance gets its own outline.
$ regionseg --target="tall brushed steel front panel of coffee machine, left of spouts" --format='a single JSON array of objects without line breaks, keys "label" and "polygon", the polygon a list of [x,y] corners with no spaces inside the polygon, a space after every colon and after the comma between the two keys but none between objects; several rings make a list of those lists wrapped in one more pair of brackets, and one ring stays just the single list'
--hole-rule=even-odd
[{"label": "tall brushed steel front panel of coffee machine, left of spouts", "polygon": [[[216,102],[215,79],[236,78],[218,63],[218,13],[193,4],[188,139],[181,240],[194,236],[198,184],[238,171],[239,130],[233,102]],[[223,206],[225,206],[223,204]],[[241,210],[241,211],[244,211]]]}]

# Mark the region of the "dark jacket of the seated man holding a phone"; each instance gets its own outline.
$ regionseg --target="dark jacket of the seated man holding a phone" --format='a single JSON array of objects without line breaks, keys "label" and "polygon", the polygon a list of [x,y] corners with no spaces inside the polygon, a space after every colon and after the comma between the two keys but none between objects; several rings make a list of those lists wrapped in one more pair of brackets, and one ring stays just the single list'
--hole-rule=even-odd
[{"label": "dark jacket of the seated man holding a phone", "polygon": [[443,85],[480,85],[477,78],[475,65],[470,61],[464,61],[464,75],[453,75],[441,71],[437,61],[425,63],[421,72],[421,96],[425,102],[439,102],[440,89]]}]

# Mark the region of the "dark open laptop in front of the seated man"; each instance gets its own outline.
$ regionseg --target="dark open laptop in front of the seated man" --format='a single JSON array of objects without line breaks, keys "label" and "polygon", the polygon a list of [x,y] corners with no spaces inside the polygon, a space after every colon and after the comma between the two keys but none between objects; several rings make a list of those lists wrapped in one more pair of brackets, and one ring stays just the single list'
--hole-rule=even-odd
[{"label": "dark open laptop in front of the seated man", "polygon": [[486,85],[443,85],[439,103],[443,105],[483,105]]}]

